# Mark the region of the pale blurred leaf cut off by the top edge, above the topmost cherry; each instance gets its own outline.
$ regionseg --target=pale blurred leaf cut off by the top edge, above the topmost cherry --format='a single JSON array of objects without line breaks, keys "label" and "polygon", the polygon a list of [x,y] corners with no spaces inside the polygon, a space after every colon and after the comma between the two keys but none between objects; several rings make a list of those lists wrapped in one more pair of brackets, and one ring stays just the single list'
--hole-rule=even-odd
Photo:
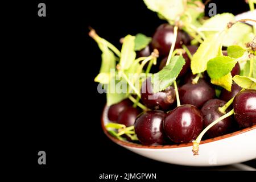
[{"label": "pale blurred leaf cut off by the top edge, above the topmost cherry", "polygon": [[177,0],[143,0],[147,8],[155,11],[167,20],[176,20],[184,12],[184,1]]}]

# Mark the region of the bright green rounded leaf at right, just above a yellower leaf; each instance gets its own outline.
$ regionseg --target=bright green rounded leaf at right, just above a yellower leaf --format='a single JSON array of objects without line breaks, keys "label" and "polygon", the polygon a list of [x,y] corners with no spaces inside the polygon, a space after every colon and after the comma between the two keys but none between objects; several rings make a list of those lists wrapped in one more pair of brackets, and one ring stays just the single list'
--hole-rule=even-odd
[{"label": "bright green rounded leaf at right, just above a yellower leaf", "polygon": [[217,56],[209,60],[207,63],[207,73],[210,78],[220,78],[227,75],[234,66],[237,60],[229,56]]}]

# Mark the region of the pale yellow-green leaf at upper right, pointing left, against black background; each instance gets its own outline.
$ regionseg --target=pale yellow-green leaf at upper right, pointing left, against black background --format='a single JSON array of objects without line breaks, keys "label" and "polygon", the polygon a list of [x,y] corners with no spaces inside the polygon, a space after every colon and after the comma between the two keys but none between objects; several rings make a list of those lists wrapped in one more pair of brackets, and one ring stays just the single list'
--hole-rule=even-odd
[{"label": "pale yellow-green leaf at upper right, pointing left, against black background", "polygon": [[231,13],[222,13],[212,16],[212,18],[206,20],[204,24],[199,28],[199,31],[203,31],[206,36],[225,30],[229,22],[234,20],[234,15]]}]

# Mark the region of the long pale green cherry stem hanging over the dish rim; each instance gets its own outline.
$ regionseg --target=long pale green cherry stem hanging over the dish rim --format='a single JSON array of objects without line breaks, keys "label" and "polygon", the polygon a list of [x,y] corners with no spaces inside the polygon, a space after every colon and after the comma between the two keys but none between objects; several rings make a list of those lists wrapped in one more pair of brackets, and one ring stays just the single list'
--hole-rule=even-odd
[{"label": "long pale green cherry stem hanging over the dish rim", "polygon": [[230,115],[234,114],[234,109],[230,110],[228,113],[222,115],[220,118],[216,119],[215,121],[213,121],[212,123],[210,123],[210,125],[208,125],[200,134],[199,136],[196,138],[196,140],[193,140],[193,154],[194,155],[199,155],[199,144],[201,142],[201,139],[203,138],[204,134],[207,133],[207,131],[214,125],[216,125],[218,122],[220,122],[222,119],[225,119],[227,117],[229,117]]}]

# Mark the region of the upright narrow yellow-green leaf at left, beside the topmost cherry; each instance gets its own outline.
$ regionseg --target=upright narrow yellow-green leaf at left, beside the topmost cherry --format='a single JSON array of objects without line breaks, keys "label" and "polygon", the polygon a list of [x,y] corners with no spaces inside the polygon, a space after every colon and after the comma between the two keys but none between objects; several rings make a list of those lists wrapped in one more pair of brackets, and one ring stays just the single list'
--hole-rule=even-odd
[{"label": "upright narrow yellow-green leaf at left, beside the topmost cherry", "polygon": [[130,66],[133,64],[136,53],[134,51],[134,43],[135,36],[127,35],[123,39],[123,45],[121,49],[121,58],[119,65],[122,70],[129,69]]}]

